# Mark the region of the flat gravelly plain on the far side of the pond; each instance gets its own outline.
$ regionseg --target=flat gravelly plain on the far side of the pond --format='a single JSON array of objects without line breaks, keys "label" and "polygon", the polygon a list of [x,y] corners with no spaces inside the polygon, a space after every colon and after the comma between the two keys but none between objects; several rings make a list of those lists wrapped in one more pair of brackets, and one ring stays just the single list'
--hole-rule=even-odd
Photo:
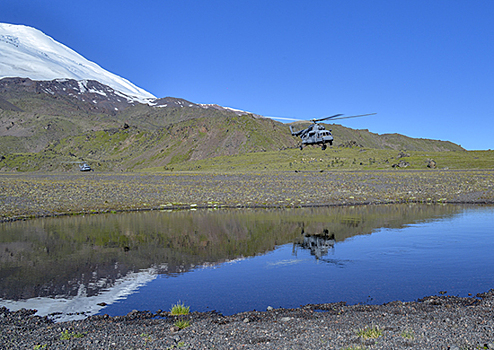
[{"label": "flat gravelly plain on the far side of the pond", "polygon": [[189,208],[494,203],[490,170],[1,174],[0,221]]}]

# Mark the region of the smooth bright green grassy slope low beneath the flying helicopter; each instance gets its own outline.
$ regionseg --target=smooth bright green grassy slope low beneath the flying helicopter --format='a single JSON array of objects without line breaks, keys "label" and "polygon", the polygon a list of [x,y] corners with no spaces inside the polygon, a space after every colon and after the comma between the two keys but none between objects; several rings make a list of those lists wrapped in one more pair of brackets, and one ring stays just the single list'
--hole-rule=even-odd
[{"label": "smooth bright green grassy slope low beneath the flying helicopter", "polygon": [[[494,169],[494,151],[424,152],[407,151],[408,157],[400,157],[395,150],[332,147],[286,149],[281,151],[246,153],[229,157],[188,161],[172,167],[154,167],[147,171],[337,171],[337,170],[385,170],[429,169],[428,160],[437,163],[437,169]],[[400,160],[410,163],[406,168],[393,168]]]}]

